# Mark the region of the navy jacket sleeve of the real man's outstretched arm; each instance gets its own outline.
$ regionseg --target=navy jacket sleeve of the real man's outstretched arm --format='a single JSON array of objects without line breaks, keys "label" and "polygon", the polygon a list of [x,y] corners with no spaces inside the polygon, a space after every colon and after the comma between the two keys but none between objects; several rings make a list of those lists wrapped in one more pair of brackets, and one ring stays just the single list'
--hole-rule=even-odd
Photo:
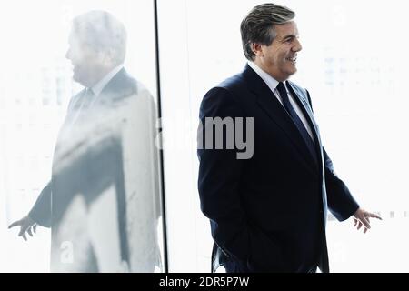
[{"label": "navy jacket sleeve of the real man's outstretched arm", "polygon": [[[313,108],[311,102],[311,96],[307,91],[308,101],[311,108]],[[359,205],[355,201],[348,187],[344,182],[336,176],[334,172],[334,165],[331,158],[326,153],[323,147],[324,158],[324,175],[325,175],[325,187],[326,196],[328,201],[328,208],[331,213],[339,221],[344,221],[350,216],[353,216]]]}]

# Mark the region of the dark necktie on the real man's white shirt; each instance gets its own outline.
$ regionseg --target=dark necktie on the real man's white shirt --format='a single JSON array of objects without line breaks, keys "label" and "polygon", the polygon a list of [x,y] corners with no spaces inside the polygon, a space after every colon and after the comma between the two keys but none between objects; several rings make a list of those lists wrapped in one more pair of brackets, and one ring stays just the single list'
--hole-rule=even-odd
[{"label": "dark necktie on the real man's white shirt", "polygon": [[287,113],[291,116],[293,119],[294,125],[297,127],[298,131],[300,132],[301,136],[303,136],[304,142],[306,146],[308,147],[308,150],[311,153],[311,156],[313,156],[314,161],[318,162],[318,158],[315,152],[315,145],[314,141],[311,138],[311,135],[308,134],[303,122],[301,121],[300,117],[297,115],[297,113],[294,110],[293,105],[290,103],[290,99],[288,98],[287,95],[287,90],[282,82],[278,83],[277,85],[278,92],[280,93],[281,100],[283,101],[283,105]]}]

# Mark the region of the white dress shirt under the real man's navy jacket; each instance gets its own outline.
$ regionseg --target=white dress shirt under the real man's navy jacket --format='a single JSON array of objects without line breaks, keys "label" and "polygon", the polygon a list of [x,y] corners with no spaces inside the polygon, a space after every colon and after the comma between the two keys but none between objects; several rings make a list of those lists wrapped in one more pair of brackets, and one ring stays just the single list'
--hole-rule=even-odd
[{"label": "white dress shirt under the real man's navy jacket", "polygon": [[[283,105],[283,101],[281,100],[280,93],[278,92],[277,85],[278,81],[274,79],[271,75],[268,73],[264,72],[263,69],[261,69],[258,65],[255,65],[254,62],[248,62],[248,65],[254,70],[254,72],[259,75],[263,81],[265,82],[266,85],[270,88],[270,90],[274,93],[275,97],[280,101],[281,105]],[[301,121],[303,122],[304,127],[306,128],[308,134],[311,136],[311,138],[314,141],[314,135],[311,130],[310,125],[308,124],[307,119],[305,118],[303,111],[301,110],[300,106],[295,102],[294,96],[288,91],[287,85],[285,82],[283,82],[285,89],[287,90],[287,95],[288,98],[290,99],[290,103],[294,108],[295,113],[300,117]],[[283,105],[284,107],[284,105]],[[285,109],[284,109],[285,110]]]}]

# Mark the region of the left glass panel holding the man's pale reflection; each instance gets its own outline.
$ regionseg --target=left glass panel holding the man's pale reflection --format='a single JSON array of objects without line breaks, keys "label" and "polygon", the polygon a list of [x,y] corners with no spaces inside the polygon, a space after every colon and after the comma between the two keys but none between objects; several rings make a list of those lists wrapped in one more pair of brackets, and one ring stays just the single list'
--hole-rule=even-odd
[{"label": "left glass panel holding the man's pale reflection", "polygon": [[[164,271],[153,2],[14,1],[0,19],[0,270]],[[51,232],[24,242],[6,226],[29,212]]]}]

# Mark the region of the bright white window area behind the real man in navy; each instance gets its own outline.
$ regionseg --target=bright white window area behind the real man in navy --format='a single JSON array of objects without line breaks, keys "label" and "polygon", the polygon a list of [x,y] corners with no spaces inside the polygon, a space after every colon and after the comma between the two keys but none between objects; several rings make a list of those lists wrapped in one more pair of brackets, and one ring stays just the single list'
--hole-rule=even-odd
[{"label": "bright white window area behind the real man in navy", "polygon": [[[170,270],[210,270],[212,238],[209,222],[200,211],[196,184],[199,105],[211,87],[244,68],[240,22],[259,4],[159,1],[161,67],[166,75],[163,115],[174,122],[164,136],[169,145],[165,173],[171,176],[165,181]],[[393,14],[386,13],[388,8],[380,1],[314,1],[312,5],[288,0],[280,4],[297,14],[304,48],[297,58],[298,73],[292,78],[312,95],[314,115],[335,170],[365,209],[384,217],[382,222],[375,220],[364,236],[356,232],[351,219],[339,223],[329,217],[332,270],[407,271],[404,246],[408,236],[402,229],[408,223],[404,171],[408,138],[404,133],[409,59],[396,52],[408,43],[402,35],[404,3],[388,2]],[[170,6],[177,9],[171,13]],[[187,142],[173,143],[182,137]],[[184,212],[178,211],[181,207]],[[180,246],[195,256],[181,256]]]}]

